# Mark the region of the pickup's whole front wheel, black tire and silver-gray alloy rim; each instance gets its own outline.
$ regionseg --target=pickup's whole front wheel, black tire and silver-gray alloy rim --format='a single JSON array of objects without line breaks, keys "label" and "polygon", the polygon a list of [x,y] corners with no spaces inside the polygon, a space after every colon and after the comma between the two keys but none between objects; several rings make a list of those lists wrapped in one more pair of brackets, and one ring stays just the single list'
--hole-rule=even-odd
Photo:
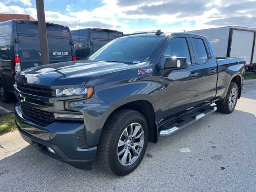
[{"label": "pickup's whole front wheel, black tire and silver-gray alloy rim", "polygon": [[121,109],[114,112],[102,129],[97,159],[117,176],[134,171],[148,146],[148,124],[142,114]]}]

